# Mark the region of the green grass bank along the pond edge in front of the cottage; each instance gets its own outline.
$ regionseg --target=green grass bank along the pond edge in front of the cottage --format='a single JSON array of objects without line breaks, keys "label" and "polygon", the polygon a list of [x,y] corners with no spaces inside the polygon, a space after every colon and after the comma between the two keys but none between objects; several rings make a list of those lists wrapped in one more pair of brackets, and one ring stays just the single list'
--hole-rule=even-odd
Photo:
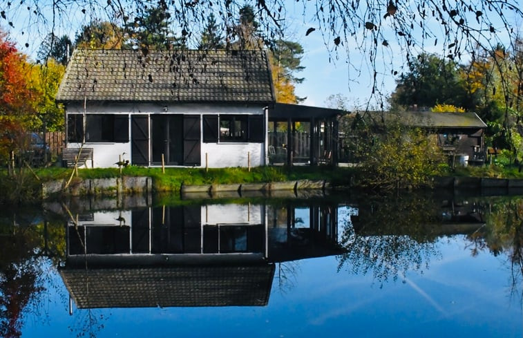
[{"label": "green grass bank along the pond edge in front of the cottage", "polygon": [[[42,182],[68,180],[73,169],[49,167],[23,169],[14,177],[0,171],[0,189],[11,191],[0,196],[0,203],[19,204],[39,200]],[[184,185],[283,182],[287,180],[327,180],[334,185],[348,185],[352,169],[330,167],[254,167],[247,168],[161,168],[126,167],[120,173],[116,168],[79,169],[78,178],[115,178],[119,176],[147,176],[153,178],[153,191],[178,192]],[[76,176],[73,175],[73,179]]]}]

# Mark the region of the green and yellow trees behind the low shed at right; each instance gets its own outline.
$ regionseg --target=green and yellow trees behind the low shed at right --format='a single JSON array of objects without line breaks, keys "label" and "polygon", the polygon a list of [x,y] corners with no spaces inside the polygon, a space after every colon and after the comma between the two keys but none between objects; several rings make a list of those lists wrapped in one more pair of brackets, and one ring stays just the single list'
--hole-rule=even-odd
[{"label": "green and yellow trees behind the low shed at right", "polygon": [[[434,109],[476,112],[488,124],[487,143],[511,149],[521,158],[523,148],[523,40],[508,50],[496,46],[459,64],[434,54],[420,54],[411,71],[397,80],[390,97],[392,109]],[[453,109],[452,109],[453,108]]]}]

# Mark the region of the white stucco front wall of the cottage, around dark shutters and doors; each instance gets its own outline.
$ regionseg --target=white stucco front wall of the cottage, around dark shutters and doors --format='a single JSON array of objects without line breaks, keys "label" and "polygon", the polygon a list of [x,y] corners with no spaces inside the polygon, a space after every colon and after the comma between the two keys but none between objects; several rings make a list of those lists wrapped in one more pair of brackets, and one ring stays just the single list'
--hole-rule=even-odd
[{"label": "white stucco front wall of the cottage, around dark shutters and doors", "polygon": [[[231,115],[263,115],[262,106],[240,106],[240,105],[210,105],[210,104],[97,104],[84,107],[80,104],[68,105],[68,113],[86,114],[190,114],[200,115],[200,140],[202,140],[202,115],[207,114],[231,114]],[[129,138],[131,138],[131,122],[129,120]],[[151,135],[149,135],[149,148]],[[68,148],[77,148],[81,144],[68,143]],[[117,162],[122,156],[122,160],[131,160],[131,142],[110,143],[110,142],[86,142],[84,147],[93,148],[93,162],[95,167],[117,167]],[[247,167],[250,154],[251,167],[265,165],[265,143],[249,142],[217,142],[201,143],[200,147],[200,167],[223,168],[223,167]],[[206,156],[207,155],[207,156]],[[206,162],[207,159],[207,162]],[[91,167],[91,163],[87,163]]]}]

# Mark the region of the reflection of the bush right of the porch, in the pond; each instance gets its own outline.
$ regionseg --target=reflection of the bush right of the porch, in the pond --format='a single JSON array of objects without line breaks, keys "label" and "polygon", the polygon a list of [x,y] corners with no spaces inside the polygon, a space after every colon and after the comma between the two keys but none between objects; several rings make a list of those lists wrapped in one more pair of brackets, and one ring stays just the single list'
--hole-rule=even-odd
[{"label": "reflection of the bush right of the porch, in the pond", "polygon": [[383,285],[409,271],[428,269],[439,258],[436,240],[441,233],[441,201],[425,194],[360,196],[358,216],[341,220],[340,256],[343,267],[368,274]]}]

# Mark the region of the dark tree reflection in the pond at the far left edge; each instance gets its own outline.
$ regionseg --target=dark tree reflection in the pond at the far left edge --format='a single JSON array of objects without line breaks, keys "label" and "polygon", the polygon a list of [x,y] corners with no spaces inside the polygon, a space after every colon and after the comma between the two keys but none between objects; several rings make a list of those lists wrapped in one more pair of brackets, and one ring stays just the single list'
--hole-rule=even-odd
[{"label": "dark tree reflection in the pond at the far left edge", "polygon": [[[23,316],[38,311],[49,275],[44,261],[64,256],[64,227],[21,212],[0,216],[0,336],[21,337]],[[60,252],[60,254],[59,254]]]}]

